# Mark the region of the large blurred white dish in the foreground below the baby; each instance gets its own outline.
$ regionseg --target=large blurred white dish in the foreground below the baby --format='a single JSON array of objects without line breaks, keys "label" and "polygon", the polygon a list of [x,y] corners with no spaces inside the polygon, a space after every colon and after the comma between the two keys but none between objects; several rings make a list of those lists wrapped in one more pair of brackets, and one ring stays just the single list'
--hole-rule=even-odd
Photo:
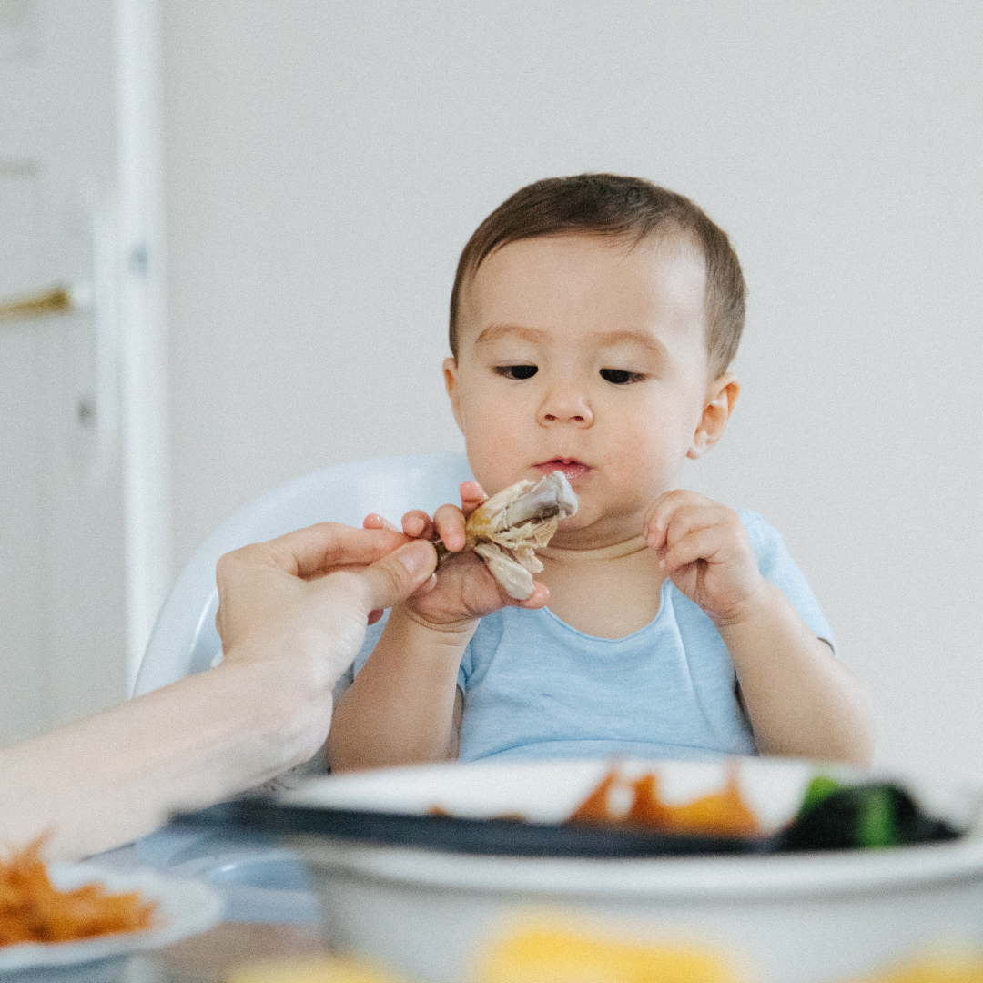
[{"label": "large blurred white dish in the foreground below the baby", "polygon": [[[294,807],[426,816],[521,812],[556,823],[597,785],[607,761],[484,762],[353,773],[305,782]],[[656,772],[661,796],[684,802],[723,785],[728,763],[622,763]],[[844,781],[869,781],[849,769]],[[740,762],[742,797],[767,832],[799,808],[823,765]],[[904,781],[910,786],[909,781]],[[912,788],[956,827],[978,792]],[[695,944],[750,967],[758,983],[830,983],[884,972],[938,947],[983,940],[983,838],[882,850],[597,858],[454,853],[305,835],[296,840],[322,898],[330,946],[414,979],[462,983],[511,926],[563,924],[630,942]],[[578,927],[579,926],[579,927]]]}]

